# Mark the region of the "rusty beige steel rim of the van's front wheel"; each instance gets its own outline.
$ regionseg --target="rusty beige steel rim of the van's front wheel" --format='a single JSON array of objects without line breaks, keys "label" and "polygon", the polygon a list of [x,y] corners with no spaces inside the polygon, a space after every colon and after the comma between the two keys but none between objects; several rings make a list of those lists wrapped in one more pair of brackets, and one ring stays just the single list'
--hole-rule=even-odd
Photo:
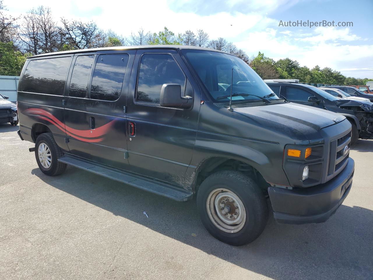
[{"label": "rusty beige steel rim of the van's front wheel", "polygon": [[206,200],[206,210],[211,222],[226,233],[236,233],[246,223],[244,203],[228,189],[217,188],[210,192]]}]

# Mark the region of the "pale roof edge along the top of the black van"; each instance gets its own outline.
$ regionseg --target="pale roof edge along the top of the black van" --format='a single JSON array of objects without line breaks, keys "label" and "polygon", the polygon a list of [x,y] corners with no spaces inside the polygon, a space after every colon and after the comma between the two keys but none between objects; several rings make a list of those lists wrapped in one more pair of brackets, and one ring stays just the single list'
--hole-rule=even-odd
[{"label": "pale roof edge along the top of the black van", "polygon": [[[41,56],[50,56],[50,55],[65,55],[73,53],[85,53],[85,52],[98,52],[102,50],[139,50],[139,49],[189,49],[189,50],[210,50],[219,53],[226,53],[220,50],[205,48],[205,47],[195,47],[195,46],[184,46],[184,45],[142,45],[142,46],[121,46],[121,47],[104,47],[104,48],[95,48],[95,49],[81,49],[81,50],[67,50],[63,52],[54,52],[54,53],[43,53],[41,55],[34,55],[31,57],[41,57]],[[230,53],[228,53],[230,55]]]}]

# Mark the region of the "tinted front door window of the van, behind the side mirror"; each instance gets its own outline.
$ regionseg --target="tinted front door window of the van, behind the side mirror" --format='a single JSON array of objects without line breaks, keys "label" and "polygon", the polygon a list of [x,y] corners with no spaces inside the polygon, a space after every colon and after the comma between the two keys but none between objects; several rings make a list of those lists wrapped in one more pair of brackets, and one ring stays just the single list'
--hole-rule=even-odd
[{"label": "tinted front door window of the van, behind the side mirror", "polygon": [[179,84],[184,93],[185,76],[171,55],[145,54],[141,57],[136,100],[159,104],[163,84]]}]

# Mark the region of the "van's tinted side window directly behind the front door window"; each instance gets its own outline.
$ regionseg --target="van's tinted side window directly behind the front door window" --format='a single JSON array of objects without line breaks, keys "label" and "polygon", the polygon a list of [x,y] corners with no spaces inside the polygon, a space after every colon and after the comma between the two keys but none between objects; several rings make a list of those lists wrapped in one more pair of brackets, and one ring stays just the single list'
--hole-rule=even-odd
[{"label": "van's tinted side window directly behind the front door window", "polygon": [[129,55],[100,55],[93,72],[91,99],[117,100],[122,90]]}]

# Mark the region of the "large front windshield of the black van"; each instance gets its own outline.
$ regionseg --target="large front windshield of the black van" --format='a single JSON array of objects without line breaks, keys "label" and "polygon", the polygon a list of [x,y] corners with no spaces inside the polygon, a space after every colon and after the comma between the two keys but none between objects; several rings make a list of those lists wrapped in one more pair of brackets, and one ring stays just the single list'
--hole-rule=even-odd
[{"label": "large front windshield of the black van", "polygon": [[279,99],[256,72],[238,57],[205,50],[182,50],[182,53],[197,72],[214,102],[229,102],[231,88],[232,102],[263,100],[260,97],[270,94],[273,95],[265,98]]}]

